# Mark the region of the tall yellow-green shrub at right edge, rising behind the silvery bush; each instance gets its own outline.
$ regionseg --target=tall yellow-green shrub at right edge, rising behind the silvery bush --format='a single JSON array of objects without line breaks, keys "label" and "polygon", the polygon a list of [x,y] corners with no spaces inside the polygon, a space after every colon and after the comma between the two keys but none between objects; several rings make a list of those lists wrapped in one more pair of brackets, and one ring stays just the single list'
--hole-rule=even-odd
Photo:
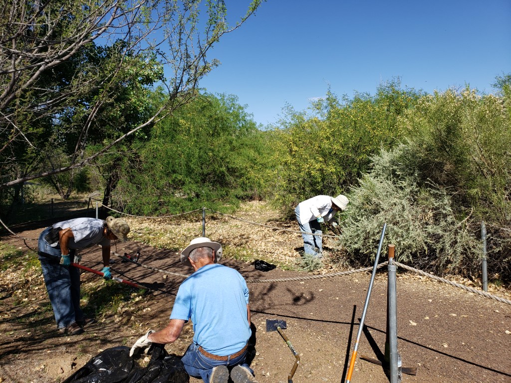
[{"label": "tall yellow-green shrub at right edge, rising behind the silvery bush", "polygon": [[500,225],[511,208],[511,125],[501,98],[448,90],[421,99],[401,120],[421,182],[449,188],[456,205]]}]

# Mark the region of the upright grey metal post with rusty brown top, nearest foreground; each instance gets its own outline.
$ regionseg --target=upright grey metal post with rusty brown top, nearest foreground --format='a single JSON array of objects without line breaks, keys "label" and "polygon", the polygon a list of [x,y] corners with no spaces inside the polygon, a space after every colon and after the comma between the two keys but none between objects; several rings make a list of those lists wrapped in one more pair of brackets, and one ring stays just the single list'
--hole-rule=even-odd
[{"label": "upright grey metal post with rusty brown top, nearest foreground", "polygon": [[396,246],[388,245],[387,266],[387,337],[385,341],[385,361],[390,367],[390,383],[399,383],[398,373],[398,316],[396,298],[396,271],[394,250]]}]

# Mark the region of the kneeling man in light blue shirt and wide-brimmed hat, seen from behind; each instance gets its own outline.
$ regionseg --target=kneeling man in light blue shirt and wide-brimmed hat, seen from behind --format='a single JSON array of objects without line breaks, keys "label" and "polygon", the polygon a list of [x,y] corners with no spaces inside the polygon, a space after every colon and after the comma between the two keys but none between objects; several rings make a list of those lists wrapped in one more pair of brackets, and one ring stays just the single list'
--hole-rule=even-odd
[{"label": "kneeling man in light blue shirt and wide-brimmed hat, seen from behind", "polygon": [[[205,383],[256,382],[245,363],[250,338],[250,307],[245,280],[236,270],[217,264],[222,245],[199,237],[181,251],[181,263],[194,273],[179,286],[170,323],[160,331],[149,330],[131,348],[130,356],[151,344],[177,340],[189,319],[193,343],[181,361],[191,376]],[[257,383],[257,382],[256,382]]]}]

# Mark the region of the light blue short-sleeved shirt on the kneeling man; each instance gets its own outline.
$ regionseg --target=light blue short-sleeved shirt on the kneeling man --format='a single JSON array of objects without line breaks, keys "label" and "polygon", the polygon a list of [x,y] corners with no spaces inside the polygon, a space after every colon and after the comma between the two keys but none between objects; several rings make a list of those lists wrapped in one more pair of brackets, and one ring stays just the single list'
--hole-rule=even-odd
[{"label": "light blue short-sleeved shirt on the kneeling man", "polygon": [[181,283],[170,319],[190,318],[195,343],[212,354],[231,355],[250,338],[247,304],[248,288],[240,273],[206,265]]}]

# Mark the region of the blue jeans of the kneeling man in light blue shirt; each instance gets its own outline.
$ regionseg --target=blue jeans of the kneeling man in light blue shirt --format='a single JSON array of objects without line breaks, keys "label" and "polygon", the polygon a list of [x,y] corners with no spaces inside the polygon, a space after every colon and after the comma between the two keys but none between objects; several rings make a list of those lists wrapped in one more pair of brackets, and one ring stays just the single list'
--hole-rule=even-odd
[{"label": "blue jeans of the kneeling man in light blue shirt", "polygon": [[252,369],[245,363],[246,356],[247,351],[245,350],[240,356],[233,359],[229,358],[227,361],[217,361],[202,355],[199,352],[199,345],[194,342],[188,346],[187,351],[181,358],[181,362],[183,362],[184,369],[187,371],[188,375],[196,378],[200,377],[205,383],[209,383],[211,372],[216,366],[227,366],[230,369],[230,367],[240,365],[247,368],[253,374]]}]

